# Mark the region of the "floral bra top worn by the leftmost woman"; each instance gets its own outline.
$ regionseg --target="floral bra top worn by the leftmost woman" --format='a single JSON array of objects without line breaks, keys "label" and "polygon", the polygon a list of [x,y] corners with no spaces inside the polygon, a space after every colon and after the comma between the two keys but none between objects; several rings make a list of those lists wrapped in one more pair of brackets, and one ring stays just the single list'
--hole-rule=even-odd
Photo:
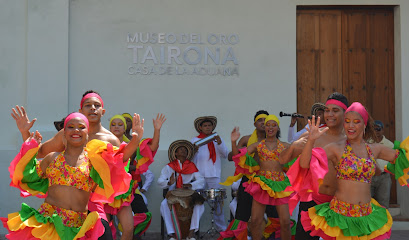
[{"label": "floral bra top worn by the leftmost woman", "polygon": [[64,152],[61,152],[47,167],[46,176],[49,179],[49,186],[71,186],[90,192],[95,182],[90,177],[91,162],[87,153],[85,153],[84,162],[78,167],[73,167],[65,161]]}]

